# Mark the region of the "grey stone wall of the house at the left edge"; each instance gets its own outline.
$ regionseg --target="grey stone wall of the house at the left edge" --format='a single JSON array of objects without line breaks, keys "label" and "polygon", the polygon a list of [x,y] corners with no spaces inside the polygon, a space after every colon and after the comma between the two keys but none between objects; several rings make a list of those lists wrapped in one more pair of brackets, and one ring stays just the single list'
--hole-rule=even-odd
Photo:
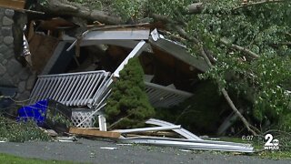
[{"label": "grey stone wall of the house at the left edge", "polygon": [[14,15],[14,10],[0,8],[0,84],[18,87],[15,98],[23,100],[29,97],[36,76],[15,59]]}]

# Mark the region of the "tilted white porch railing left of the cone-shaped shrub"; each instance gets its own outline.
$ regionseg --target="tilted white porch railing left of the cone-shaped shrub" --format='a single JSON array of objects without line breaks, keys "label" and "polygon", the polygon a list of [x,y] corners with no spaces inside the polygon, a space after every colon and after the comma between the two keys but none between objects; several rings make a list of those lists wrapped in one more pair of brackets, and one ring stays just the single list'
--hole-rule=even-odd
[{"label": "tilted white porch railing left of the cone-shaped shrub", "polygon": [[51,98],[65,106],[94,106],[110,77],[109,72],[91,71],[39,76],[30,103]]}]

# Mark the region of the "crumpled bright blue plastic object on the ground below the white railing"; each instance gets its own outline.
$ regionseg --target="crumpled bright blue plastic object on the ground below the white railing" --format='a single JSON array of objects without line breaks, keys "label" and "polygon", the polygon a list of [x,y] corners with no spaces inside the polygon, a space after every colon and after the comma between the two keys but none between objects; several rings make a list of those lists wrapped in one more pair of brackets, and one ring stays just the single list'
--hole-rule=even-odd
[{"label": "crumpled bright blue plastic object on the ground below the white railing", "polygon": [[35,120],[38,126],[43,126],[45,124],[47,105],[48,100],[45,99],[37,101],[35,105],[19,108],[17,121]]}]

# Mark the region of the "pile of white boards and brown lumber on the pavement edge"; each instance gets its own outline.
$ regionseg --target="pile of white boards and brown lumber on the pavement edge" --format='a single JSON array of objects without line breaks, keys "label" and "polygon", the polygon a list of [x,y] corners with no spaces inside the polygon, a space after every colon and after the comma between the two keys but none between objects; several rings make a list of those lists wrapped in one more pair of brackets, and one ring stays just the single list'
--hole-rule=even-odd
[{"label": "pile of white boards and brown lumber on the pavement edge", "polygon": [[[104,123],[105,123],[104,121],[99,121],[100,127],[105,126]],[[80,136],[113,138],[117,142],[121,143],[146,144],[154,146],[174,147],[178,149],[254,152],[254,148],[251,145],[235,142],[205,140],[203,138],[197,137],[196,135],[187,131],[185,128],[181,128],[181,126],[176,126],[166,121],[151,118],[146,121],[146,124],[156,125],[157,127],[116,129],[113,131],[100,131],[90,128],[70,128],[70,133]],[[173,130],[179,136],[181,136],[181,138],[133,135],[136,133],[143,133],[146,131],[163,131],[163,130]]]}]

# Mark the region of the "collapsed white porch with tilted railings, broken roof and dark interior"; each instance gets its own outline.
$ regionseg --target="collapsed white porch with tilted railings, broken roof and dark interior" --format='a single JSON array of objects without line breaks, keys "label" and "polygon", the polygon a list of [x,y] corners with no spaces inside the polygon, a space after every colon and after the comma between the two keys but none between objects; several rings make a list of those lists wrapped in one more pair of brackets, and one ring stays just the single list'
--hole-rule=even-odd
[{"label": "collapsed white porch with tilted railings, broken roof and dark interior", "polygon": [[[147,26],[102,28],[86,31],[79,39],[62,36],[38,77],[30,103],[52,98],[70,107],[99,108],[113,79],[134,56],[146,74],[146,94],[153,107],[169,108],[192,96],[189,80],[206,71],[203,59],[190,56],[186,47]],[[65,70],[72,73],[60,74]]]}]

